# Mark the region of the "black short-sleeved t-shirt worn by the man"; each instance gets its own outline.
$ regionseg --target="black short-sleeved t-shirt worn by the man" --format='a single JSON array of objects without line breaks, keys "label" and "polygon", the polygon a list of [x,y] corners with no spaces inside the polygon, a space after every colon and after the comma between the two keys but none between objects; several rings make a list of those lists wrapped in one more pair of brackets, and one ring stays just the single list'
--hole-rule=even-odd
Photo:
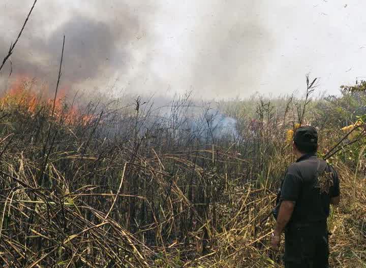
[{"label": "black short-sleeved t-shirt worn by the man", "polygon": [[330,198],[339,195],[337,172],[315,155],[304,155],[291,164],[281,188],[281,200],[296,202],[290,223],[326,220]]}]

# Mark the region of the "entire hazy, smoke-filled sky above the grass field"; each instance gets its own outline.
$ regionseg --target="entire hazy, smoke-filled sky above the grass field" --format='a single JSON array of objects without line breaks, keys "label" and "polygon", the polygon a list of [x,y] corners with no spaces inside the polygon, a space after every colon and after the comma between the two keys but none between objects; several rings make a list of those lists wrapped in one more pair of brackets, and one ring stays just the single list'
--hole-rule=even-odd
[{"label": "entire hazy, smoke-filled sky above the grass field", "polygon": [[[0,3],[0,56],[32,0]],[[359,0],[39,0],[12,57],[13,75],[115,92],[246,97],[319,90],[366,77],[366,2]],[[3,58],[3,56],[1,56]],[[5,83],[9,66],[3,70]]]}]

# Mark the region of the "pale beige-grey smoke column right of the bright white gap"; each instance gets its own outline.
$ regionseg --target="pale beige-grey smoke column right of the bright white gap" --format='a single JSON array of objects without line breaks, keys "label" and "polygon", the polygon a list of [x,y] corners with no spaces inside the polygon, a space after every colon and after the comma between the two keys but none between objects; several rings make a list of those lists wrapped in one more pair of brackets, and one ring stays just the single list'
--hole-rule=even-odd
[{"label": "pale beige-grey smoke column right of the bright white gap", "polygon": [[193,85],[197,90],[211,96],[238,96],[256,90],[272,46],[259,16],[261,3],[210,2],[214,10],[207,25],[200,27],[194,45]]}]

